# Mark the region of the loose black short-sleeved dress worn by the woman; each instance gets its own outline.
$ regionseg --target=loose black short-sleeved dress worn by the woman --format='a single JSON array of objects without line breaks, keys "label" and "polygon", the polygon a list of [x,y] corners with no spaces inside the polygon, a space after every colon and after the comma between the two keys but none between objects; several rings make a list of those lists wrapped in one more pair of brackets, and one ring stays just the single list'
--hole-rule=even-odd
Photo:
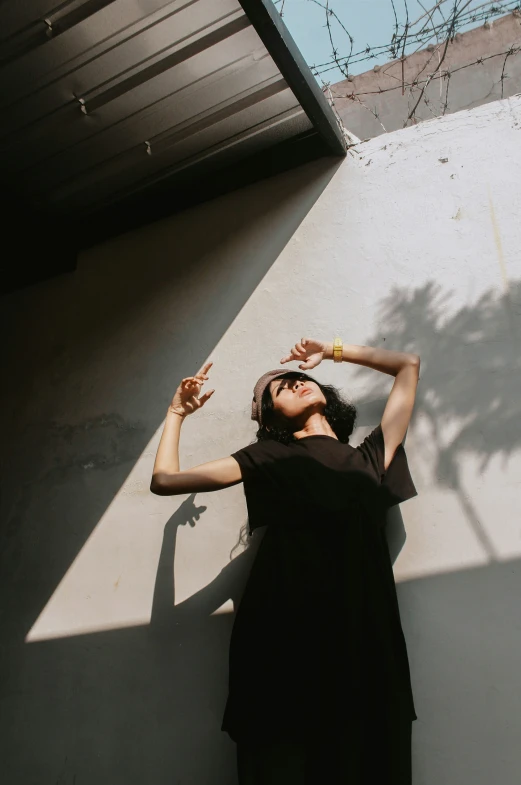
[{"label": "loose black short-sleeved dress worn by the woman", "polygon": [[[316,435],[233,457],[250,529],[267,526],[230,644],[222,729],[238,742],[241,782],[278,782],[291,757],[283,781],[307,783],[334,748],[330,782],[357,770],[353,785],[408,785],[416,712],[384,534],[386,510],[417,495],[403,445],[387,471],[380,425],[356,448]],[[375,744],[389,749],[371,761]]]}]

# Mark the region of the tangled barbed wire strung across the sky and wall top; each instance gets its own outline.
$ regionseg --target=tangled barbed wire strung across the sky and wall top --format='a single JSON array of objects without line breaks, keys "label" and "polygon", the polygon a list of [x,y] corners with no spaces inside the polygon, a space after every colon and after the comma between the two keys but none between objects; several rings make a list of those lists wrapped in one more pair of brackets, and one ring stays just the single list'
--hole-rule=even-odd
[{"label": "tangled barbed wire strung across the sky and wall top", "polygon": [[[279,11],[284,13],[284,5],[288,0],[275,0]],[[458,71],[461,71],[470,66],[483,64],[487,60],[496,57],[503,57],[503,66],[499,82],[501,83],[501,97],[504,97],[504,83],[508,79],[508,74],[505,71],[508,58],[518,54],[521,47],[511,45],[508,49],[501,52],[494,52],[485,57],[477,57],[474,61],[466,63],[465,65],[457,68],[442,69],[448,53],[449,44],[454,41],[462,28],[469,28],[472,25],[483,23],[485,27],[490,25],[490,20],[499,16],[505,16],[513,13],[516,16],[521,16],[521,2],[519,0],[489,0],[488,2],[473,5],[475,0],[438,0],[430,8],[422,4],[421,0],[417,0],[422,9],[422,14],[413,22],[410,21],[411,16],[407,0],[402,0],[404,19],[399,21],[395,0],[389,0],[392,8],[392,15],[394,19],[393,33],[390,41],[385,44],[371,46],[366,44],[363,49],[353,51],[354,36],[349,31],[347,25],[339,18],[336,11],[331,8],[331,0],[308,0],[315,6],[321,8],[324,12],[325,28],[327,30],[329,43],[331,46],[331,57],[323,63],[311,65],[311,71],[315,77],[321,82],[322,89],[328,95],[330,103],[334,104],[335,97],[349,98],[362,107],[371,112],[375,119],[379,122],[382,129],[385,127],[380,120],[376,109],[368,107],[363,97],[371,94],[381,94],[391,92],[393,90],[401,89],[402,95],[405,91],[409,92],[409,111],[404,120],[404,127],[409,122],[416,122],[416,112],[420,104],[424,104],[433,116],[437,116],[432,107],[431,101],[426,95],[426,91],[435,79],[446,80],[445,83],[445,96],[441,106],[441,114],[444,115],[449,106],[449,88],[451,76]],[[442,6],[449,6],[449,11],[444,13]],[[472,8],[470,8],[472,6]],[[338,42],[336,36],[340,34],[341,44]],[[342,52],[342,46],[345,43],[347,51]],[[419,69],[418,73],[413,79],[405,79],[405,62],[408,57],[421,51],[427,50],[430,56],[427,58],[423,66]],[[324,75],[331,71],[339,71],[344,79],[353,81],[354,76],[351,68],[354,65],[367,62],[375,59],[382,59],[387,55],[390,62],[387,66],[375,66],[375,70],[384,67],[384,74],[388,74],[389,68],[397,62],[401,62],[401,79],[395,75],[390,75],[395,78],[398,84],[387,88],[379,87],[377,90],[370,90],[365,92],[348,92],[345,95],[340,95],[334,89],[335,85],[331,81],[324,79]],[[433,60],[437,58],[437,62]],[[422,74],[425,76],[422,78]],[[440,91],[441,91],[440,84]],[[442,93],[440,92],[440,101]]]}]

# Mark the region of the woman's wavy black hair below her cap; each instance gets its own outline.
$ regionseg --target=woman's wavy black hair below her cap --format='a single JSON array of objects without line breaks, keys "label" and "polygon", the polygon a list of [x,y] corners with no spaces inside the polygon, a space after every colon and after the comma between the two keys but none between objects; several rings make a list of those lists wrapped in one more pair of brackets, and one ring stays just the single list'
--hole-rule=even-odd
[{"label": "woman's wavy black hair below her cap", "polygon": [[[335,436],[344,444],[349,443],[349,437],[353,433],[356,420],[356,408],[352,403],[346,401],[336,387],[330,384],[320,384],[316,379],[301,371],[288,371],[283,379],[302,379],[318,384],[326,399],[324,416],[333,429]],[[298,441],[293,436],[292,424],[275,411],[273,398],[271,397],[270,385],[264,390],[261,401],[261,412],[263,425],[257,431],[257,440],[272,439],[282,444]]]}]

